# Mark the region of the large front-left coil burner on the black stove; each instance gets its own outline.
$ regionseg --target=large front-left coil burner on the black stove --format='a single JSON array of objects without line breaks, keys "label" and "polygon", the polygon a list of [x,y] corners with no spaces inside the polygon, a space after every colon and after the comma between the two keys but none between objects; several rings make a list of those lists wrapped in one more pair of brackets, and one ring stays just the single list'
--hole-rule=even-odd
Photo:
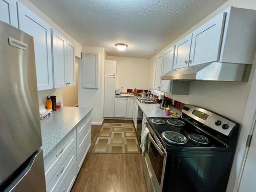
[{"label": "large front-left coil burner on the black stove", "polygon": [[173,132],[173,131],[163,132],[162,137],[170,143],[175,143],[175,144],[187,143],[187,138],[184,135],[177,132]]}]

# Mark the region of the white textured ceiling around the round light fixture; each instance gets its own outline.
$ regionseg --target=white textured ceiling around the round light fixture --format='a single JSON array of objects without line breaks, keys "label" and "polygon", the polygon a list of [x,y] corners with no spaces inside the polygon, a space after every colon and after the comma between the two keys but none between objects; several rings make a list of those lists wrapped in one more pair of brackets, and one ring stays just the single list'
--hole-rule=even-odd
[{"label": "white textured ceiling around the round light fixture", "polygon": [[[81,45],[150,58],[227,0],[29,0]],[[115,44],[129,47],[117,51]]]}]

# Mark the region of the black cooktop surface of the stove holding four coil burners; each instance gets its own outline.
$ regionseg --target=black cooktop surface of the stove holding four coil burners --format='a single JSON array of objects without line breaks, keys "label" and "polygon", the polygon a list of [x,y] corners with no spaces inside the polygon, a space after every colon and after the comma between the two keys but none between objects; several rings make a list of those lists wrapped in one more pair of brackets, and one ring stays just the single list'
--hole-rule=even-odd
[{"label": "black cooktop surface of the stove holding four coil burners", "polygon": [[[174,124],[169,122],[174,122]],[[234,135],[238,132],[239,124],[236,124],[237,129],[232,132],[232,137],[234,136],[234,141],[232,142],[230,137],[210,130],[209,127],[189,118],[185,114],[183,114],[182,118],[148,118],[148,123],[150,123],[154,133],[160,139],[166,152],[233,151],[236,147],[237,138]],[[164,133],[167,134],[166,137]],[[168,140],[168,136],[174,138],[174,142]],[[183,140],[182,136],[184,136]],[[183,142],[176,142],[176,138],[181,138]]]}]

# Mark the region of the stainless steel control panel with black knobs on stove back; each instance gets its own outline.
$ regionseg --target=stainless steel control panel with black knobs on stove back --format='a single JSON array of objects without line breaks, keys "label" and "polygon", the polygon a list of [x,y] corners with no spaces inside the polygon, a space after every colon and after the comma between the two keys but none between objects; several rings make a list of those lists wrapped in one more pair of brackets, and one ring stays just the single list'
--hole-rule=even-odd
[{"label": "stainless steel control panel with black knobs on stove back", "polygon": [[228,136],[232,132],[233,127],[236,126],[236,123],[194,105],[186,104],[182,109],[182,113],[226,136]]}]

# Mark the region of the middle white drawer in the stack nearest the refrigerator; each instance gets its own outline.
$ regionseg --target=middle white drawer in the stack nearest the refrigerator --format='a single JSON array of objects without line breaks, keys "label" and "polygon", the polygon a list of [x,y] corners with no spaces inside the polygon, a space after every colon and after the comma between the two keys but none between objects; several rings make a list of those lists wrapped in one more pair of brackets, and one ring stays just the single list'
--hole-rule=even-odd
[{"label": "middle white drawer in the stack nearest the refrigerator", "polygon": [[63,178],[65,178],[64,176],[67,174],[69,168],[75,162],[75,159],[75,147],[73,147],[63,163],[59,163],[58,166],[55,166],[53,172],[46,179],[47,191],[56,191]]}]

